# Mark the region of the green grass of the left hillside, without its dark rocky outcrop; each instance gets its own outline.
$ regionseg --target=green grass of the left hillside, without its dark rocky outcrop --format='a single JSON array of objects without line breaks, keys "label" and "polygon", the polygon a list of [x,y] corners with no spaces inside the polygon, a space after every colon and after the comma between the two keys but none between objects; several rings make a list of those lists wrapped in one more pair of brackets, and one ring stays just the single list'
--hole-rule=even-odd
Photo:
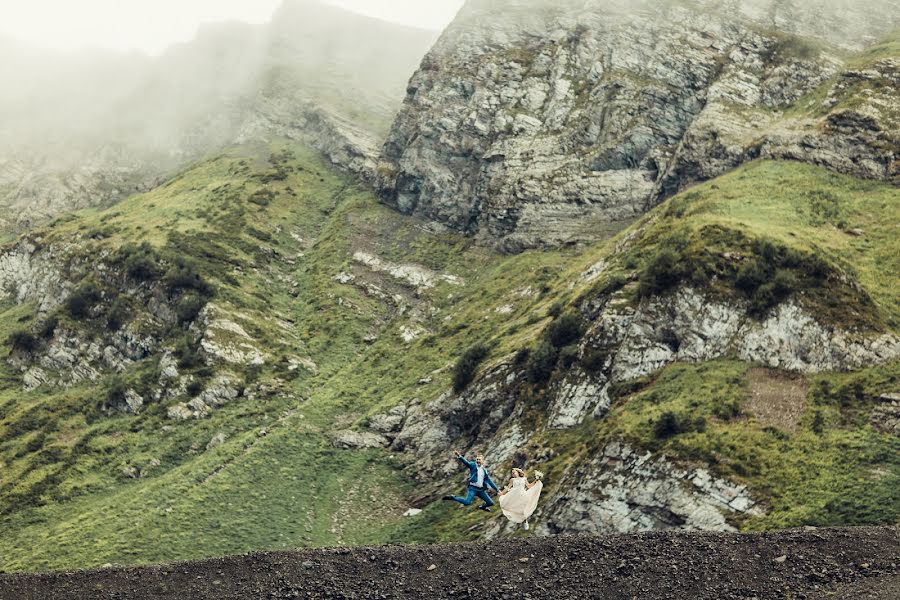
[{"label": "green grass of the left hillside, without its dark rocky outcrop", "polygon": [[[78,239],[77,252],[87,255],[142,239],[161,253],[194,257],[216,287],[214,304],[239,315],[265,343],[265,367],[237,370],[248,384],[268,383],[279,393],[241,399],[199,421],[166,418],[183,398],[151,403],[138,416],[109,417],[96,405],[112,378],[23,393],[0,363],[4,569],[386,539],[407,508],[410,483],[387,453],[338,451],[327,432],[375,407],[438,393],[446,375],[431,385],[417,381],[447,367],[469,340],[501,325],[527,324],[529,306],[512,316],[493,309],[529,282],[550,282],[564,260],[556,253],[500,257],[461,237],[426,233],[314,153],[286,144],[236,150],[149,194],[35,235],[44,243]],[[272,260],[266,248],[281,258]],[[434,309],[421,327],[436,335],[407,349],[396,307],[334,280],[352,270],[355,248],[458,275],[466,298],[459,297],[461,286],[448,283],[422,291]],[[372,283],[395,285],[390,278]],[[391,291],[405,293],[411,306],[418,302],[409,291]],[[8,308],[3,332],[21,328],[32,314],[33,307]],[[364,341],[370,335],[377,340]],[[288,371],[295,357],[312,357],[317,373]],[[147,362],[123,377],[140,382],[156,368]],[[183,372],[203,378],[206,370]],[[225,443],[205,450],[220,432]],[[145,477],[121,474],[154,459],[160,464]]]}]

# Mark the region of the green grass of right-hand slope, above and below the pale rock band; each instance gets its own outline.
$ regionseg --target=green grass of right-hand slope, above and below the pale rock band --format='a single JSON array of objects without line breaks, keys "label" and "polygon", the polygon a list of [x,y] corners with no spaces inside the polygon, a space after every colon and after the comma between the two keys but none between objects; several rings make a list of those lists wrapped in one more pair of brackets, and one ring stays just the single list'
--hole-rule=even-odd
[{"label": "green grass of right-hand slope, above and below the pale rock band", "polygon": [[[560,286],[558,302],[575,306],[621,289],[637,303],[642,293],[688,283],[713,297],[753,303],[759,290],[738,289],[735,283],[739,264],[765,261],[754,244],[762,240],[780,256],[799,252],[807,257],[785,267],[798,273],[790,278],[785,297],[836,326],[896,334],[898,223],[900,191],[895,187],[800,163],[752,163],[670,199],[573,260],[561,281],[578,281],[593,261],[608,257],[595,282]],[[828,279],[802,275],[808,257],[823,261]],[[660,265],[671,279],[657,280]],[[644,292],[645,287],[651,289]],[[532,339],[523,347],[534,350],[537,344]],[[551,382],[561,374],[559,364],[556,369]],[[814,376],[734,360],[675,364],[614,388],[613,406],[603,420],[541,432],[530,440],[529,450],[553,450],[554,458],[541,465],[548,474],[548,497],[561,492],[559,479],[573,465],[610,441],[626,440],[749,486],[766,514],[733,521],[743,529],[896,523],[900,443],[895,434],[873,427],[870,416],[883,395],[898,392],[896,360]],[[540,385],[531,390],[525,427],[540,431],[545,396]],[[658,433],[664,418],[676,423],[674,432]],[[448,511],[437,503],[419,521],[405,523],[394,539],[475,538],[484,529],[482,521],[471,511]]]}]

